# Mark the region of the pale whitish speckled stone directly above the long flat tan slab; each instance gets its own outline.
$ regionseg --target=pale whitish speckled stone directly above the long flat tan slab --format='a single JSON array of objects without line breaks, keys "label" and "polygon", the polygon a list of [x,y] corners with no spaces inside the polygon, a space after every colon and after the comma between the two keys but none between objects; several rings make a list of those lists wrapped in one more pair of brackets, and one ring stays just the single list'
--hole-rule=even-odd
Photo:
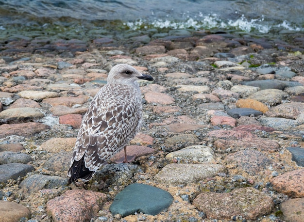
[{"label": "pale whitish speckled stone directly above the long flat tan slab", "polygon": [[188,161],[210,162],[213,160],[214,152],[208,146],[188,146],[178,151],[167,154],[166,159],[181,159]]}]

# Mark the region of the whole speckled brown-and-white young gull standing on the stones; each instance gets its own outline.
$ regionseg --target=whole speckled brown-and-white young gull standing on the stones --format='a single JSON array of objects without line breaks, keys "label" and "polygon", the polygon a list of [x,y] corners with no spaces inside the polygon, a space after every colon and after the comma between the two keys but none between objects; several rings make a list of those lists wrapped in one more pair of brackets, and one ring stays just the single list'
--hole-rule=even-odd
[{"label": "whole speckled brown-and-white young gull standing on the stones", "polygon": [[84,114],[68,170],[70,182],[78,178],[89,181],[101,165],[122,149],[125,157],[121,162],[135,159],[127,156],[126,145],[142,123],[142,100],[136,79],[153,80],[128,64],[111,69],[107,84]]}]

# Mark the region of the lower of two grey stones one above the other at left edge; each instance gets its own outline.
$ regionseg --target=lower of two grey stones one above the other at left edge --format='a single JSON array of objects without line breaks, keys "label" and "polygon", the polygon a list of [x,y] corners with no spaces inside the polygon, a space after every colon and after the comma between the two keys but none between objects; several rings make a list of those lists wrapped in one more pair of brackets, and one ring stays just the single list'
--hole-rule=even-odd
[{"label": "lower of two grey stones one above the other at left edge", "polygon": [[25,176],[34,170],[34,167],[23,163],[8,163],[0,165],[0,183],[5,183],[8,179],[17,179]]}]

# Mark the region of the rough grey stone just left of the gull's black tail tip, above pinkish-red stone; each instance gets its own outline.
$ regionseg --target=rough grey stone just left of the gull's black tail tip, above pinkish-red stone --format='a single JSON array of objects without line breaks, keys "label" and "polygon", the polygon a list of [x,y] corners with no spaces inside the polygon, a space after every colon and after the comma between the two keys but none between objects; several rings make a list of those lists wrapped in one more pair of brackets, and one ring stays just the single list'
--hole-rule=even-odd
[{"label": "rough grey stone just left of the gull's black tail tip, above pinkish-red stone", "polygon": [[19,185],[20,188],[25,188],[28,192],[37,192],[43,189],[53,189],[68,185],[68,178],[60,176],[49,176],[43,174],[34,174],[25,178]]}]

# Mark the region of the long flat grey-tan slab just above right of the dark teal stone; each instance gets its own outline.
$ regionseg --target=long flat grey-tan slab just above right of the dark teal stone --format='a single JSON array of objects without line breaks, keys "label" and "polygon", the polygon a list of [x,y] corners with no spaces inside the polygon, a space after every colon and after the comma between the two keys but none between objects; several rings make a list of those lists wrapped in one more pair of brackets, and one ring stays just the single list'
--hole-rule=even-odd
[{"label": "long flat grey-tan slab just above right of the dark teal stone", "polygon": [[154,180],[158,183],[170,185],[186,185],[196,183],[207,177],[212,177],[218,173],[226,173],[227,170],[220,164],[175,164],[166,165]]}]

